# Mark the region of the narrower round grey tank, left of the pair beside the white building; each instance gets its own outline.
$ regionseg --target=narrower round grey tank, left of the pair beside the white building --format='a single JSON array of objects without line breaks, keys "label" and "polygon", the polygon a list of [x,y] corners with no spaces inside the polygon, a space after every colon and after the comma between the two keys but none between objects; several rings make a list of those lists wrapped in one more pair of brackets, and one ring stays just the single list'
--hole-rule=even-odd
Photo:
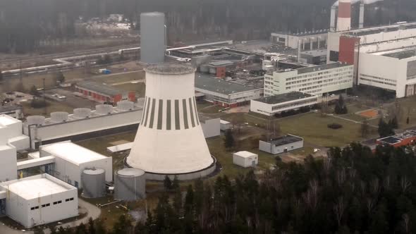
[{"label": "narrower round grey tank, left of the pair beside the white building", "polygon": [[81,174],[82,197],[95,198],[106,195],[106,171],[102,168],[90,168]]}]

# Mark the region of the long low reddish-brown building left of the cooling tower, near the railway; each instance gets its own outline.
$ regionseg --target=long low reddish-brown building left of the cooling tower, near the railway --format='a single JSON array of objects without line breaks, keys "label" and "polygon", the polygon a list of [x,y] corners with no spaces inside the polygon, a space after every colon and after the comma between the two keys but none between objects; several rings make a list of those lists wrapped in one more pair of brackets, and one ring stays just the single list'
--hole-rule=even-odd
[{"label": "long low reddish-brown building left of the cooling tower, near the railway", "polygon": [[135,92],[126,92],[110,85],[94,81],[82,81],[75,85],[75,91],[99,102],[117,103],[118,101],[136,101]]}]

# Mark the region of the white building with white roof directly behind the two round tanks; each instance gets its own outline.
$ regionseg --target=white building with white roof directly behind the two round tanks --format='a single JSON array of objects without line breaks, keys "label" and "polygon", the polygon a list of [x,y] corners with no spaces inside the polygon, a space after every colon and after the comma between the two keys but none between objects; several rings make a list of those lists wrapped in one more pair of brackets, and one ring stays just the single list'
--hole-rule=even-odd
[{"label": "white building with white roof directly behind the two round tanks", "polygon": [[82,188],[82,171],[87,168],[102,168],[106,181],[113,180],[112,158],[92,152],[72,142],[47,144],[39,148],[41,158],[55,156],[55,167],[51,174],[66,183]]}]

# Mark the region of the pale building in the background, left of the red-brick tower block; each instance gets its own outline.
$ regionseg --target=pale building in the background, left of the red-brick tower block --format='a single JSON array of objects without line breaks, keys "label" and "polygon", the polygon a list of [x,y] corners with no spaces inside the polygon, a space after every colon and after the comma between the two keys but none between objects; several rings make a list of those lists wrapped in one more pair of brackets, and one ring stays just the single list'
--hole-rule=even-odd
[{"label": "pale building in the background, left of the red-brick tower block", "polygon": [[[292,49],[312,50],[326,46],[328,30],[317,30],[310,32],[283,33],[272,32],[270,35],[271,43],[279,44]],[[300,42],[300,47],[298,44]]]}]

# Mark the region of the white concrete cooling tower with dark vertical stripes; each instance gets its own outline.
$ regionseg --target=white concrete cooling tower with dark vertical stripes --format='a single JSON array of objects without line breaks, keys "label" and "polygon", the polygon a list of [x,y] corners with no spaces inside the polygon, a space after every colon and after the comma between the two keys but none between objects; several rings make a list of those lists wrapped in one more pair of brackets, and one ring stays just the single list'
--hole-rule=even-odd
[{"label": "white concrete cooling tower with dark vertical stripes", "polygon": [[145,71],[145,109],[128,166],[142,169],[149,180],[166,175],[189,180],[212,173],[215,161],[197,115],[195,69],[158,64]]}]

